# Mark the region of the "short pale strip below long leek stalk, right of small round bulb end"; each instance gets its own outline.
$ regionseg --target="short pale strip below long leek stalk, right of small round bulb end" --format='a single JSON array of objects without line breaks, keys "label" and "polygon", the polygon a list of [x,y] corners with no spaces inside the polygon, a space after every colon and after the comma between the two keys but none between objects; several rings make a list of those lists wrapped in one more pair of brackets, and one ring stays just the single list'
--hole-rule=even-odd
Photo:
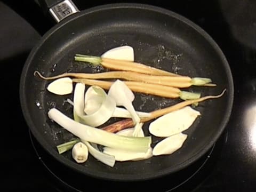
[{"label": "short pale strip below long leek stalk, right of small round bulb end", "polygon": [[102,153],[97,145],[92,145],[87,142],[87,141],[83,141],[82,142],[87,146],[88,150],[89,150],[89,153],[95,158],[95,159],[98,159],[100,162],[110,166],[110,167],[113,167],[115,165],[115,162],[116,162],[116,159],[113,155],[108,155],[108,154],[105,154],[105,153]]}]

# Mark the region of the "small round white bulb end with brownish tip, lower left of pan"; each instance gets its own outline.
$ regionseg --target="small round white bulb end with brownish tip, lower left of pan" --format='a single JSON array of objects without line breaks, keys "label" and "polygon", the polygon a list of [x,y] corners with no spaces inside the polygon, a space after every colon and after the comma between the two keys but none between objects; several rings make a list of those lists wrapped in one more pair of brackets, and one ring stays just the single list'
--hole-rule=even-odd
[{"label": "small round white bulb end with brownish tip, lower left of pan", "polygon": [[83,142],[77,142],[73,146],[71,154],[77,163],[84,163],[88,158],[88,148]]}]

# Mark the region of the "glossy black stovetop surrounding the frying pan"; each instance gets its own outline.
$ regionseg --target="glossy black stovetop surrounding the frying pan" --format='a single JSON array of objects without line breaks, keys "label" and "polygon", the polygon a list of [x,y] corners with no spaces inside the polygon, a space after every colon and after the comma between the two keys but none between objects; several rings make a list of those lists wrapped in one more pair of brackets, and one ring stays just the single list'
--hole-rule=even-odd
[{"label": "glossy black stovetop surrounding the frying pan", "polygon": [[[118,1],[74,2],[82,10]],[[20,108],[23,63],[41,35],[54,24],[34,1],[0,1],[1,191],[82,191],[87,189],[84,186],[96,191],[138,191],[141,186],[157,191],[256,190],[256,2],[136,2],[161,6],[194,21],[226,55],[234,77],[235,99],[230,121],[220,139],[195,164],[169,177],[129,185],[84,178],[83,185],[78,184],[78,175],[61,169],[30,135]]]}]

